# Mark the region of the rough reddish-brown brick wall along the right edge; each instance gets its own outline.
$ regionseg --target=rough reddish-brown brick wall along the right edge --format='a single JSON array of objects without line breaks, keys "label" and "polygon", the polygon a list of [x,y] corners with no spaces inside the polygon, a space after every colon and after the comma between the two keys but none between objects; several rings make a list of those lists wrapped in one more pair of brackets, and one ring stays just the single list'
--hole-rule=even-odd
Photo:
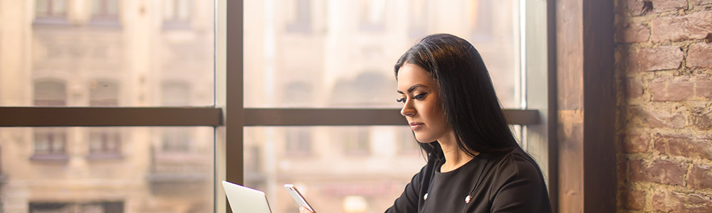
[{"label": "rough reddish-brown brick wall along the right edge", "polygon": [[618,212],[712,212],[712,1],[616,14]]}]

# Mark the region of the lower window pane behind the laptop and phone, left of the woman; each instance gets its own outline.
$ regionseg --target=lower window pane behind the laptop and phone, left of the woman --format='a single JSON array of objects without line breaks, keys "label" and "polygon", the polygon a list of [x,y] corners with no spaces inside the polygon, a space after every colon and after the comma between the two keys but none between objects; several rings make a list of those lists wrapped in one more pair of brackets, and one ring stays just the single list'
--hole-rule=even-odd
[{"label": "lower window pane behind the laptop and phone, left of the woman", "polygon": [[247,127],[244,150],[273,212],[298,212],[286,183],[318,212],[383,212],[425,165],[407,126]]}]

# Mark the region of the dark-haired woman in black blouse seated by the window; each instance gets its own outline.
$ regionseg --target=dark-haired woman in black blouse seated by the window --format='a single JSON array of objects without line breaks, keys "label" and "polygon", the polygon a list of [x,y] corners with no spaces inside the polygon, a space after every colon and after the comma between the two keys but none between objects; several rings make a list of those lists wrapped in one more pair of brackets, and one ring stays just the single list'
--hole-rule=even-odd
[{"label": "dark-haired woman in black blouse seated by the window", "polygon": [[551,212],[541,171],[512,136],[473,45],[429,35],[395,75],[401,114],[428,162],[386,212]]}]

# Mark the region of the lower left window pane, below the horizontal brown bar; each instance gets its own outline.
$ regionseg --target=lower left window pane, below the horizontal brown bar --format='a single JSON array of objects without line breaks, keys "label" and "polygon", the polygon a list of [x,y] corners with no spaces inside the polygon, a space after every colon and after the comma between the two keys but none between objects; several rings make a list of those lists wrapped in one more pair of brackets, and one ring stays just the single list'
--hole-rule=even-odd
[{"label": "lower left window pane, below the horizontal brown bar", "polygon": [[0,128],[0,159],[4,212],[214,212],[211,127]]}]

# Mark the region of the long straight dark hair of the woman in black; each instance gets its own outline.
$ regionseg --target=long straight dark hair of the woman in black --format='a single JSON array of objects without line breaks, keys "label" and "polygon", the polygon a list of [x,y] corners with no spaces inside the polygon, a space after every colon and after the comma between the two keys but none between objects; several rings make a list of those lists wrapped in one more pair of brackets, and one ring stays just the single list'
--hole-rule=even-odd
[{"label": "long straight dark hair of the woman in black", "polygon": [[[422,67],[436,80],[447,124],[461,150],[474,157],[471,151],[496,154],[521,149],[507,126],[487,67],[467,40],[428,35],[398,59],[396,79],[404,63]],[[444,157],[437,141],[420,147],[428,158]]]}]

